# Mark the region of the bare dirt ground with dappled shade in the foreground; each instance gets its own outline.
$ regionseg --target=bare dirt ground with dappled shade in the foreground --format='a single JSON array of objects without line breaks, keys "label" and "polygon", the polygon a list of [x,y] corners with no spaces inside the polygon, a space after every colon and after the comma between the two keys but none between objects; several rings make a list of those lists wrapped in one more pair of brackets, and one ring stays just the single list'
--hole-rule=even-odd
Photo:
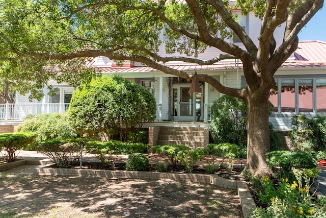
[{"label": "bare dirt ground with dappled shade in the foreground", "polygon": [[0,217],[243,217],[235,190],[171,180],[0,173]]}]

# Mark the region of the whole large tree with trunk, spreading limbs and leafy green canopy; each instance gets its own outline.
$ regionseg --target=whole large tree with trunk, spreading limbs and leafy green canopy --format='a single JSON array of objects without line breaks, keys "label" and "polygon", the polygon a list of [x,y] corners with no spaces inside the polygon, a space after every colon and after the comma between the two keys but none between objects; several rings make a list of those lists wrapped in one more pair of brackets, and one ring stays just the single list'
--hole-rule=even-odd
[{"label": "whole large tree with trunk, spreading limbs and leafy green canopy", "polygon": [[[243,64],[247,87],[223,86],[206,74],[200,81],[219,92],[243,99],[248,105],[247,168],[255,175],[268,172],[268,94],[274,74],[298,44],[297,34],[323,6],[323,0],[3,0],[0,6],[0,60],[10,61],[17,78],[36,90],[49,79],[79,85],[94,70],[85,63],[105,56],[144,63],[166,74],[191,78],[188,72],[162,64],[184,61],[199,65],[236,58]],[[253,11],[261,19],[259,43],[237,22],[234,9]],[[285,24],[281,44],[275,30]],[[163,37],[164,36],[164,37]],[[243,46],[231,43],[238,37]],[[163,40],[164,39],[164,40]],[[195,50],[195,41],[198,50]],[[194,58],[215,47],[221,55]],[[159,49],[177,56],[160,56]],[[60,68],[62,74],[53,69]],[[16,78],[16,79],[17,79]],[[258,118],[259,117],[259,118]]]}]

